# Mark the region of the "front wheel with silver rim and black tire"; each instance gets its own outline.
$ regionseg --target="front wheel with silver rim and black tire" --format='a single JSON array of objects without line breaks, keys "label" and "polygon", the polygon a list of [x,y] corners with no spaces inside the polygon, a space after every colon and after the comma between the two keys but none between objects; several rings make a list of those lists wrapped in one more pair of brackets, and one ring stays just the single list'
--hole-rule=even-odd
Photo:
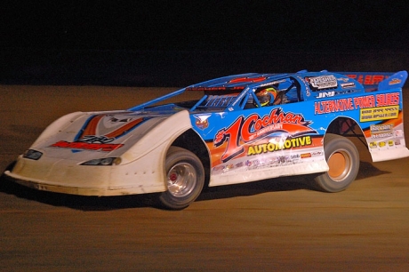
[{"label": "front wheel with silver rim and black tire", "polygon": [[165,208],[181,210],[200,195],[205,184],[205,169],[200,159],[184,148],[169,148],[165,161],[165,185],[159,201]]}]

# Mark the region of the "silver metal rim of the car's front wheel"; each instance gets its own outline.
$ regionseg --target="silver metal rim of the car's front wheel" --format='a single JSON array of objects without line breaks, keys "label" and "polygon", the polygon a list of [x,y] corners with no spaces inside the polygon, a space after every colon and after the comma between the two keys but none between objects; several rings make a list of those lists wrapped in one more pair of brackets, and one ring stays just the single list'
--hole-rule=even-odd
[{"label": "silver metal rim of the car's front wheel", "polygon": [[172,196],[188,196],[196,185],[196,170],[191,164],[175,164],[167,172],[167,188]]}]

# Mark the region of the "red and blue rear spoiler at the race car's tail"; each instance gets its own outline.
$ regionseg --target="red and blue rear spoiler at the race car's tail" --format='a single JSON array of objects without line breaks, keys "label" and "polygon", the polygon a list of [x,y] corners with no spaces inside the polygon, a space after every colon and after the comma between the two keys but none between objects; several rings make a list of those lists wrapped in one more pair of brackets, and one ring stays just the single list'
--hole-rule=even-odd
[{"label": "red and blue rear spoiler at the race car's tail", "polygon": [[397,73],[387,72],[338,72],[357,80],[364,85],[366,91],[388,90],[392,88],[402,88],[407,79],[407,72],[399,71]]}]

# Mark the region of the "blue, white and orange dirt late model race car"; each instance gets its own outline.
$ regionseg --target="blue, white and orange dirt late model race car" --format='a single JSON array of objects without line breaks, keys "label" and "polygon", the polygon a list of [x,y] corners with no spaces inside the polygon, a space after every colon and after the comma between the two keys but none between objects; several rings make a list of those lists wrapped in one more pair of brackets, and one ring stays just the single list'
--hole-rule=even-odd
[{"label": "blue, white and orange dirt late model race car", "polygon": [[[120,196],[158,193],[169,209],[204,186],[316,173],[338,192],[355,180],[360,136],[373,162],[409,156],[406,71],[225,76],[125,110],[75,112],[49,125],[5,175],[39,190]],[[164,103],[182,92],[200,100]]]}]

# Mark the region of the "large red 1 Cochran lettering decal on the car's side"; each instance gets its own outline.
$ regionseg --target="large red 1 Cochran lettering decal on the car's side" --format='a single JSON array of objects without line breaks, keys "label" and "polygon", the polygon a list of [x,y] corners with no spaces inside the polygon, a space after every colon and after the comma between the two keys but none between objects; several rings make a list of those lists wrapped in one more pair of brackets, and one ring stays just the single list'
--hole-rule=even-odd
[{"label": "large red 1 Cochran lettering decal on the car's side", "polygon": [[[304,120],[301,114],[294,114],[293,112],[284,112],[282,108],[273,108],[268,115],[259,116],[254,113],[250,116],[239,116],[233,124],[229,127],[224,127],[216,132],[213,145],[218,148],[223,144],[227,147],[221,156],[221,162],[227,162],[230,159],[239,156],[245,152],[245,145],[250,144],[256,140],[261,140],[273,132],[286,133],[293,137],[285,143],[284,147],[290,146],[292,148],[297,145],[306,145],[308,139],[299,137],[303,134],[317,133],[309,127],[310,121]],[[293,134],[293,132],[296,132]],[[287,142],[287,141],[285,141]],[[266,150],[269,148],[277,149],[276,144],[268,144],[265,146]],[[264,146],[261,146],[264,150]]]}]

